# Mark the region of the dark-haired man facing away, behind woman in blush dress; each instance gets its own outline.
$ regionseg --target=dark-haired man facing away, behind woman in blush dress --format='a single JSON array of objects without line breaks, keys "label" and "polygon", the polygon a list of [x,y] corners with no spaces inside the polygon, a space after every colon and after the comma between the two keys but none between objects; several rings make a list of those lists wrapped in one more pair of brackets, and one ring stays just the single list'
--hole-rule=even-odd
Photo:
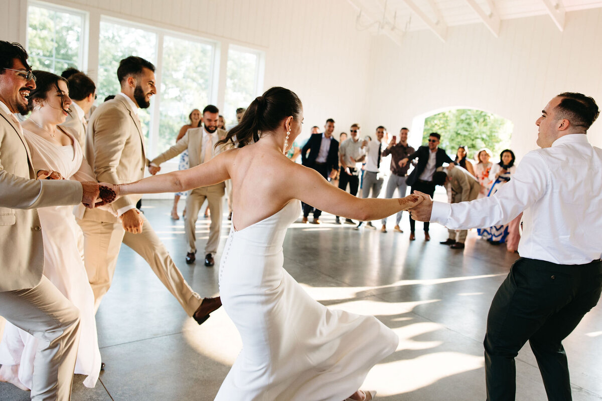
[{"label": "dark-haired man facing away, behind woman in blush dress", "polygon": [[69,114],[61,126],[69,127],[75,132],[75,139],[83,149],[85,130],[88,127],[85,115],[92,109],[96,100],[96,85],[90,77],[74,68],[64,70],[61,76],[67,79],[69,97],[73,101],[69,105]]}]

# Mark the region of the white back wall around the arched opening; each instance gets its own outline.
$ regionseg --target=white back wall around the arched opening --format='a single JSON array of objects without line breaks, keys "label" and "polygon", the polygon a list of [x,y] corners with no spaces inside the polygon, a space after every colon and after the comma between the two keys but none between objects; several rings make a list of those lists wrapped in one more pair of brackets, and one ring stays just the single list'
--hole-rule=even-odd
[{"label": "white back wall around the arched opening", "polygon": [[[406,34],[401,47],[375,37],[364,123],[396,132],[435,109],[483,109],[514,123],[520,157],[536,148],[535,120],[554,95],[582,92],[602,106],[601,37],[600,8],[567,13],[564,32],[541,16],[504,20],[499,38],[482,24],[448,28],[445,43],[430,31]],[[589,141],[602,145],[601,132],[602,119]],[[411,132],[411,141],[421,135]]]}]

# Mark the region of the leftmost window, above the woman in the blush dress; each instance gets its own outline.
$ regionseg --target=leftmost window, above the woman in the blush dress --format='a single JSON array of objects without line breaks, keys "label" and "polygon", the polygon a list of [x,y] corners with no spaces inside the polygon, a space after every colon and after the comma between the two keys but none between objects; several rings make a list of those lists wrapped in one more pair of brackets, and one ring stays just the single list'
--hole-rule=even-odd
[{"label": "leftmost window, above the woman in the blush dress", "polygon": [[33,69],[59,74],[84,67],[85,14],[33,3],[27,10],[27,49]]}]

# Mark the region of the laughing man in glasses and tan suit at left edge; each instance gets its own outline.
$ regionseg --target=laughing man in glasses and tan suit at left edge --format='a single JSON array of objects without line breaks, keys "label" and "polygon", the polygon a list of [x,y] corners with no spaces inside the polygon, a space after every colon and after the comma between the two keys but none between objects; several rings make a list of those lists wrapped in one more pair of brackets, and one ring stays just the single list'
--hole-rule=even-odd
[{"label": "laughing man in glasses and tan suit at left edge", "polygon": [[[0,316],[38,338],[32,400],[69,400],[79,343],[79,311],[42,275],[44,246],[37,207],[93,207],[98,184],[37,180],[13,113],[27,112],[36,80],[18,43],[0,41]],[[55,174],[58,174],[55,172]],[[14,381],[2,366],[0,380]]]}]

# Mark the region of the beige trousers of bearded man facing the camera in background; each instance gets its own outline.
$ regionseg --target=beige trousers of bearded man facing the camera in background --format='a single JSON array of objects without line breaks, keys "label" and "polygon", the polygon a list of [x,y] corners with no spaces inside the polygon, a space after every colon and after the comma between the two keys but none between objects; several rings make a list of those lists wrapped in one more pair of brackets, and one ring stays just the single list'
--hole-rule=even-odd
[{"label": "beige trousers of bearded man facing the camera in background", "polygon": [[188,193],[186,198],[186,216],[184,226],[188,237],[188,252],[196,252],[196,221],[199,217],[200,207],[205,199],[211,210],[211,225],[209,225],[209,239],[205,245],[205,254],[215,256],[217,246],[220,244],[220,231],[222,231],[222,203],[226,185],[222,182],[216,185],[196,188]]}]

